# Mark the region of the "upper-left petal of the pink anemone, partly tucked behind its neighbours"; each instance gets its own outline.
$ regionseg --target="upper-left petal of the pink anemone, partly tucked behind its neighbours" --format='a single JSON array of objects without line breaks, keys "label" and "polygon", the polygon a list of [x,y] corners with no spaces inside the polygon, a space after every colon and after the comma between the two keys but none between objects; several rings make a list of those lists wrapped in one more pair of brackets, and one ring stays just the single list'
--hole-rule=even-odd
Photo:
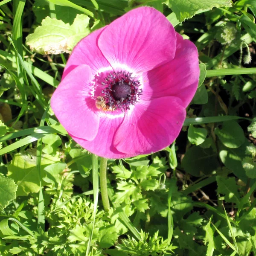
[{"label": "upper-left petal of the pink anemone, partly tucked behind its neighbours", "polygon": [[101,68],[110,66],[98,47],[99,35],[105,28],[106,26],[90,33],[90,35],[81,39],[76,47],[74,47],[67,61],[62,79],[64,79],[71,70],[81,64],[87,64],[91,68],[93,74],[97,73]]}]

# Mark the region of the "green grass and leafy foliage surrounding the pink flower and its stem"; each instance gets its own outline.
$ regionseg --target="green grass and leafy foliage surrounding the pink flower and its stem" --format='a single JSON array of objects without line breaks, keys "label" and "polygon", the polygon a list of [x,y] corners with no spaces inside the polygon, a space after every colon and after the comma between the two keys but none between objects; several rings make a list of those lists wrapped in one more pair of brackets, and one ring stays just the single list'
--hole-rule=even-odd
[{"label": "green grass and leafy foliage surrounding the pink flower and its stem", "polygon": [[[173,145],[108,161],[105,212],[100,159],[49,99],[81,38],[144,5],[195,42],[200,82]],[[0,255],[256,255],[255,17],[254,0],[1,1]]]}]

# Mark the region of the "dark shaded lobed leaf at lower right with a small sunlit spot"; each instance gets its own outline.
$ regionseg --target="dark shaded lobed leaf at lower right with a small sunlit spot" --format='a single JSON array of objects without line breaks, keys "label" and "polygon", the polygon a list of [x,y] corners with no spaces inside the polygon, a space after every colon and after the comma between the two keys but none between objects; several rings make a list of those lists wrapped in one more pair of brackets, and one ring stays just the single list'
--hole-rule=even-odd
[{"label": "dark shaded lobed leaf at lower right with a small sunlit spot", "polygon": [[227,203],[235,203],[239,205],[241,200],[238,194],[238,186],[234,177],[225,178],[221,176],[216,177],[218,184],[218,193],[224,195]]}]

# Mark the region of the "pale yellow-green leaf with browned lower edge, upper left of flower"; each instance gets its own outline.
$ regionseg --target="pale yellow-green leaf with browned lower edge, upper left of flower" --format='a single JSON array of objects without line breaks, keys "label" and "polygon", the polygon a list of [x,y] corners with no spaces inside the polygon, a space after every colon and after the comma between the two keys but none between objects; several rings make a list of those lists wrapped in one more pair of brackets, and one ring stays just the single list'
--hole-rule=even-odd
[{"label": "pale yellow-green leaf with browned lower edge, upper left of flower", "polygon": [[42,26],[38,26],[33,34],[26,37],[26,44],[32,51],[41,54],[70,52],[90,33],[89,20],[86,15],[77,15],[70,26],[62,20],[46,17],[42,21]]}]

